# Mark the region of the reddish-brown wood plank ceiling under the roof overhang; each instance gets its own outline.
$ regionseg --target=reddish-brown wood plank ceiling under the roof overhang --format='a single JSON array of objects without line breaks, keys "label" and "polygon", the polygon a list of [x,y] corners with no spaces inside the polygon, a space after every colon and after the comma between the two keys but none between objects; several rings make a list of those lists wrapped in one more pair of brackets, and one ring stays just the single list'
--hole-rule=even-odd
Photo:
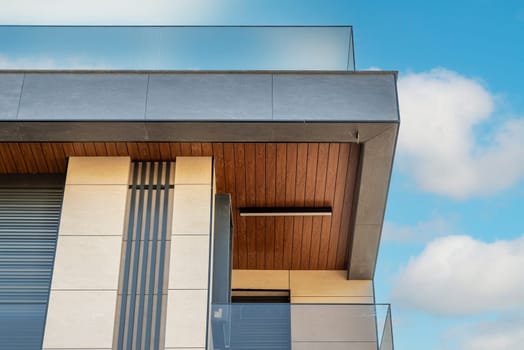
[{"label": "reddish-brown wood plank ceiling under the roof overhang", "polygon": [[[235,269],[346,269],[360,147],[349,143],[0,143],[0,173],[63,173],[68,156],[214,156],[231,193]],[[324,217],[240,217],[242,207],[332,207]]]}]

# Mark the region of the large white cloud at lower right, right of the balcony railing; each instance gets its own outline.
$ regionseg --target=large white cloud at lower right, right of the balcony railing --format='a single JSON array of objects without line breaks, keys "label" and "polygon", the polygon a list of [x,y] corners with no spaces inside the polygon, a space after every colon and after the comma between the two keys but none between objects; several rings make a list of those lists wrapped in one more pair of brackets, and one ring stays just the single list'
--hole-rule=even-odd
[{"label": "large white cloud at lower right, right of the balcony railing", "polygon": [[434,314],[467,315],[524,306],[524,236],[485,243],[469,236],[431,241],[410,259],[393,299]]}]

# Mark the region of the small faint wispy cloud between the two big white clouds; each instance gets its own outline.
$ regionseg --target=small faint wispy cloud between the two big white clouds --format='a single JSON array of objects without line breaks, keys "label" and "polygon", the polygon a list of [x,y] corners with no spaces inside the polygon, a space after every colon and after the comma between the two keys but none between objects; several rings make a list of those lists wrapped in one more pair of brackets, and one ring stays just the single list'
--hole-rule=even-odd
[{"label": "small faint wispy cloud between the two big white clouds", "polygon": [[425,243],[435,237],[449,235],[452,227],[448,221],[437,215],[429,220],[419,221],[414,226],[386,221],[382,229],[382,239],[389,242]]}]

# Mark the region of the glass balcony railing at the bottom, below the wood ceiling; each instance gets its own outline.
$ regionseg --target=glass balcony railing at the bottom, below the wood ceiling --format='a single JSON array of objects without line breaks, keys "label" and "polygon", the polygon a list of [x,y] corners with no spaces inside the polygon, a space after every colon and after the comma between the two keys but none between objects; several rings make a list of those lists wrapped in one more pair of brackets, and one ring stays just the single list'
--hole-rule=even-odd
[{"label": "glass balcony railing at the bottom, below the wood ceiling", "polygon": [[388,304],[214,304],[214,350],[393,350]]}]

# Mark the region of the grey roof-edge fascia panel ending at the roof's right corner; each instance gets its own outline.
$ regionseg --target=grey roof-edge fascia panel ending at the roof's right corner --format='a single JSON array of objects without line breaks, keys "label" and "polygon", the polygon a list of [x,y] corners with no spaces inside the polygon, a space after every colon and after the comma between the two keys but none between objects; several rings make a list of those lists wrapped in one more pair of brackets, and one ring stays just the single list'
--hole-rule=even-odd
[{"label": "grey roof-edge fascia panel ending at the roof's right corner", "polygon": [[275,120],[398,121],[394,74],[275,74]]}]

